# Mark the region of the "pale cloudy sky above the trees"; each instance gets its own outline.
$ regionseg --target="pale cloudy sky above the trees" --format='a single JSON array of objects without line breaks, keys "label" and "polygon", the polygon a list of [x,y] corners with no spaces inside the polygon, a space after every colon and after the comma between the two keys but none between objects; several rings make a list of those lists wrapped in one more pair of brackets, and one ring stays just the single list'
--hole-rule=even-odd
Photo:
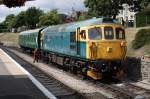
[{"label": "pale cloudy sky above the trees", "polygon": [[0,22],[2,22],[7,15],[18,14],[20,11],[25,11],[32,6],[40,8],[45,12],[55,8],[61,13],[69,13],[72,8],[75,10],[85,10],[83,1],[84,0],[35,0],[27,2],[23,7],[16,8],[7,8],[4,5],[0,5]]}]

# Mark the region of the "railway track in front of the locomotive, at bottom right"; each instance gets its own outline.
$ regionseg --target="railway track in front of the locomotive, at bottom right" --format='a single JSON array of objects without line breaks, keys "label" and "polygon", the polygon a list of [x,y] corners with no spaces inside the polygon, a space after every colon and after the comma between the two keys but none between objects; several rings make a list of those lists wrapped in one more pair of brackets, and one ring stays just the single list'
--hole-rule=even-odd
[{"label": "railway track in front of the locomotive, at bottom right", "polygon": [[150,99],[150,90],[131,83],[106,84],[97,81],[93,85],[107,90],[115,99]]}]

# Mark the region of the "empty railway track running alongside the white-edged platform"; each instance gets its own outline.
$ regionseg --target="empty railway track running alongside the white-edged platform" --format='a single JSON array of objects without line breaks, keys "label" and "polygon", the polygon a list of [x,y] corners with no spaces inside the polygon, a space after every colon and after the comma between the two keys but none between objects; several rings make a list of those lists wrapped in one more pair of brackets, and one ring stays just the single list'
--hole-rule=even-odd
[{"label": "empty railway track running alongside the white-edged platform", "polygon": [[50,75],[32,66],[30,63],[21,59],[7,48],[3,47],[2,49],[15,61],[17,61],[23,68],[30,72],[45,88],[47,88],[58,99],[84,99],[84,97],[77,93],[75,90],[69,88]]}]

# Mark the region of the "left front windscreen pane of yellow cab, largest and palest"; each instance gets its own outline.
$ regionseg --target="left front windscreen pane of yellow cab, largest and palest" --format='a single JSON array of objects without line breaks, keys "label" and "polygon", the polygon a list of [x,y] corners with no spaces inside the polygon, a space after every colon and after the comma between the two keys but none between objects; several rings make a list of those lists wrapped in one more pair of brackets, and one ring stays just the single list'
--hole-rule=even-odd
[{"label": "left front windscreen pane of yellow cab, largest and palest", "polygon": [[102,38],[102,30],[99,27],[91,28],[88,30],[89,39],[100,40]]}]

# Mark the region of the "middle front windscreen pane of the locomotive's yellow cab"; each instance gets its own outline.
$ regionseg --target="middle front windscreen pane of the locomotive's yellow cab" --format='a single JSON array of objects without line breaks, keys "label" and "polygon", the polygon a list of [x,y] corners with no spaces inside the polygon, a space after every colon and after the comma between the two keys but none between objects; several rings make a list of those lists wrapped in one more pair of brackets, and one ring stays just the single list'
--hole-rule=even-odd
[{"label": "middle front windscreen pane of the locomotive's yellow cab", "polygon": [[113,39],[114,38],[113,28],[112,27],[105,27],[104,28],[104,35],[105,35],[105,39]]}]

